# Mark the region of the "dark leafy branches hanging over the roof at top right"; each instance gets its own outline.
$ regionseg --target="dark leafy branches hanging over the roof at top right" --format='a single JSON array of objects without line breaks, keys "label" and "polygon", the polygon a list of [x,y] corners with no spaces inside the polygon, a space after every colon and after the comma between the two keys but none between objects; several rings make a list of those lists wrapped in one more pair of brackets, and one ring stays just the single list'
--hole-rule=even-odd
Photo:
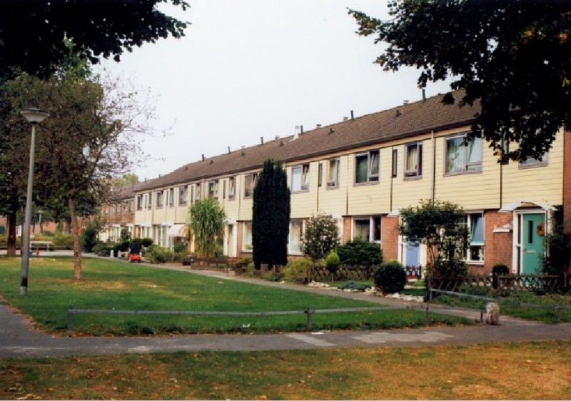
[{"label": "dark leafy branches hanging over the roof at top right", "polygon": [[[498,156],[541,158],[571,129],[571,3],[552,0],[392,0],[389,21],[349,13],[358,34],[388,44],[386,71],[420,69],[418,85],[453,78],[444,103],[480,103],[480,131]],[[455,99],[456,98],[456,99]],[[513,142],[515,146],[508,148]]]}]

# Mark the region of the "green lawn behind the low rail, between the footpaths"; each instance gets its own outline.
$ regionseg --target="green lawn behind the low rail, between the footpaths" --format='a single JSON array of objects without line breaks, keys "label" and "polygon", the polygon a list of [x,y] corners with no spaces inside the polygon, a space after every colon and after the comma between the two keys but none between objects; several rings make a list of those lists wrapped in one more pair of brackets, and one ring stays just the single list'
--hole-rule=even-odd
[{"label": "green lawn behind the low rail, between the footpaths", "polygon": [[[29,290],[19,295],[19,258],[0,258],[0,295],[51,333],[67,329],[69,306],[115,310],[263,312],[360,308],[378,304],[194,275],[150,265],[84,258],[84,280],[74,280],[71,258],[32,258]],[[313,330],[402,328],[425,325],[415,310],[313,315]],[[430,315],[429,324],[468,324]],[[75,315],[76,335],[268,333],[307,330],[306,316],[272,317]]]}]

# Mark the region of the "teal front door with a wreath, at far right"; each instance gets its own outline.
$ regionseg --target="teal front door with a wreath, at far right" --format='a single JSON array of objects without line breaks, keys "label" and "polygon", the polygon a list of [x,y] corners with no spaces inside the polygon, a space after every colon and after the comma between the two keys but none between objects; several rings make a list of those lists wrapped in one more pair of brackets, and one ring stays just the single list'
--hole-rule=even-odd
[{"label": "teal front door with a wreath, at far right", "polygon": [[523,215],[520,230],[523,245],[522,273],[533,274],[541,268],[545,255],[545,213]]}]

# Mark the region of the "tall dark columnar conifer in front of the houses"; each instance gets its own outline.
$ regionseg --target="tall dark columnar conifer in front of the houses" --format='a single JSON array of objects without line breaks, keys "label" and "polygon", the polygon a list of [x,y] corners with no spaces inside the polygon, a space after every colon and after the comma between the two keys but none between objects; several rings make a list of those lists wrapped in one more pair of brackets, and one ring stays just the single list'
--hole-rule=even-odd
[{"label": "tall dark columnar conifer in front of the houses", "polygon": [[268,159],[254,188],[252,206],[253,260],[257,269],[288,263],[290,189],[281,162]]}]

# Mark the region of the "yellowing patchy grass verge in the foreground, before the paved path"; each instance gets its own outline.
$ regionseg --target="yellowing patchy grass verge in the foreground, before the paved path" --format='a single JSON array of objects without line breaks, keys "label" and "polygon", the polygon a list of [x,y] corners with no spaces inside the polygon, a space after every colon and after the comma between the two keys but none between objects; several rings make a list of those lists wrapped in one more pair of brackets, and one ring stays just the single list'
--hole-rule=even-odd
[{"label": "yellowing patchy grass verge in the foreground, before the paved path", "polygon": [[571,343],[0,360],[3,400],[567,400]]}]

